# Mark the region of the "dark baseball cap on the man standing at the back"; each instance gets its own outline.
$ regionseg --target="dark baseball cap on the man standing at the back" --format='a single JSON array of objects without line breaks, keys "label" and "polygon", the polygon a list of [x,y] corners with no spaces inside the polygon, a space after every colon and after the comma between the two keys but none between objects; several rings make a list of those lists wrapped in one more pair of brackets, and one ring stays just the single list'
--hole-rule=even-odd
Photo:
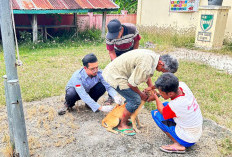
[{"label": "dark baseball cap on the man standing at the back", "polygon": [[108,33],[106,35],[107,39],[116,39],[118,37],[119,31],[122,29],[122,25],[119,20],[113,19],[108,25]]}]

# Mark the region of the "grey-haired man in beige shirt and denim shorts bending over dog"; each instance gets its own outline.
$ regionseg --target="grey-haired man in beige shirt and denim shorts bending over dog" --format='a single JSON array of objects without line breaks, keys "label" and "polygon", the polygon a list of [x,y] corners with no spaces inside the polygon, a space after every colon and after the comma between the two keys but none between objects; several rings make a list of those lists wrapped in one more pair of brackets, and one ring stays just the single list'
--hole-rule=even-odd
[{"label": "grey-haired man in beige shirt and denim shorts bending over dog", "polygon": [[[136,49],[122,54],[109,63],[103,71],[103,77],[116,91],[126,99],[118,130],[126,135],[135,132],[127,125],[131,114],[138,108],[147,95],[138,89],[138,85],[146,82],[152,87],[151,77],[155,70],[162,72],[176,72],[178,62],[169,55],[160,56],[151,50]],[[133,134],[131,134],[133,133]]]}]

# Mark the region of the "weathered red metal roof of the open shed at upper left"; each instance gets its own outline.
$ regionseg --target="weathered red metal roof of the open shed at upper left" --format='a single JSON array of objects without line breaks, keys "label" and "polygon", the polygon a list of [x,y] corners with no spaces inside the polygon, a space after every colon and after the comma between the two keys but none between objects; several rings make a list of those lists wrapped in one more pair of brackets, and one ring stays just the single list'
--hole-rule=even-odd
[{"label": "weathered red metal roof of the open shed at upper left", "polygon": [[111,0],[12,0],[14,10],[117,9]]}]

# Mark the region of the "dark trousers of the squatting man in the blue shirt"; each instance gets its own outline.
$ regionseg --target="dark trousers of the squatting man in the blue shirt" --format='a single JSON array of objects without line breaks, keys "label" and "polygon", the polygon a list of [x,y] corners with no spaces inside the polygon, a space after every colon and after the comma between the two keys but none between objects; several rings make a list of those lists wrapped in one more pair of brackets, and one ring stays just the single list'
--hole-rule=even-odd
[{"label": "dark trousers of the squatting man in the blue shirt", "polygon": [[[94,100],[98,101],[98,99],[106,92],[105,86],[99,82],[93,88],[89,91],[89,96]],[[70,87],[66,90],[65,94],[65,101],[68,107],[73,107],[75,105],[75,102],[81,100],[79,95],[77,94],[74,87]]]}]

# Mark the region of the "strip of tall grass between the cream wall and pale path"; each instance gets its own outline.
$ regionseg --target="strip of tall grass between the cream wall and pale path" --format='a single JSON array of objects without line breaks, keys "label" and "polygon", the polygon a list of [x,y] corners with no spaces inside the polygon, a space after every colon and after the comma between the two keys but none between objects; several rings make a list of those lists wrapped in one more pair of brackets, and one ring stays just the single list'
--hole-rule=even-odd
[{"label": "strip of tall grass between the cream wall and pale path", "polygon": [[140,44],[146,47],[147,42],[155,45],[156,52],[171,51],[175,48],[196,49],[205,52],[212,52],[221,55],[232,56],[232,43],[225,40],[222,49],[219,50],[203,50],[194,47],[195,29],[174,30],[172,27],[139,27],[140,35],[142,36]]}]

